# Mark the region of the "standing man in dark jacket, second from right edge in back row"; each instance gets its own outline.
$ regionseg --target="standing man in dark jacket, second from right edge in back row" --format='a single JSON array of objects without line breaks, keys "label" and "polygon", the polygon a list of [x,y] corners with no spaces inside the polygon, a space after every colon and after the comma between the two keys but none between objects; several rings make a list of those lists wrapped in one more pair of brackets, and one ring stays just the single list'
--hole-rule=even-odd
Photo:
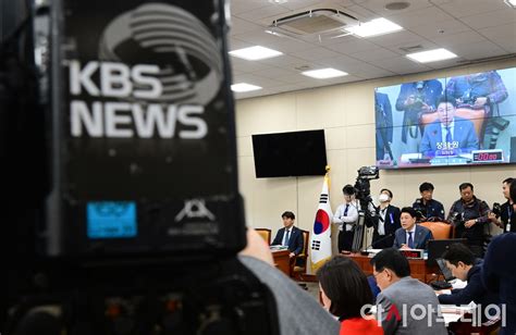
[{"label": "standing man in dark jacket, second from right edge in back row", "polygon": [[[455,236],[467,238],[469,249],[475,257],[483,256],[483,226],[491,222],[488,218],[489,206],[475,197],[474,186],[470,183],[463,183],[458,186],[460,199],[455,201],[450,209],[447,220],[455,226]],[[454,218],[460,218],[455,220]]]}]

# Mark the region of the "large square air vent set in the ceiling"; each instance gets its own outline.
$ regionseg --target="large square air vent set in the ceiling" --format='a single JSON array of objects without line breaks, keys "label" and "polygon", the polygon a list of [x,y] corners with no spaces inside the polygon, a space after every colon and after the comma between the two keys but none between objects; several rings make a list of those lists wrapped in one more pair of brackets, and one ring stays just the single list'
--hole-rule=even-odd
[{"label": "large square air vent set in the ceiling", "polygon": [[358,25],[358,20],[333,9],[317,9],[274,20],[269,28],[290,35],[306,36],[341,30]]}]

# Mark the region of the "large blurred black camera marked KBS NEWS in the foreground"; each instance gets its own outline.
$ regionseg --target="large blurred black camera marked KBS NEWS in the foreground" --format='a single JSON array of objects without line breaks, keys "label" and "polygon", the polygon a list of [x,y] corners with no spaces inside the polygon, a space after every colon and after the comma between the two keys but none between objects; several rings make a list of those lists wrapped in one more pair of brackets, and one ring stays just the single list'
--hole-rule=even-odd
[{"label": "large blurred black camera marked KBS NEWS in the foreground", "polygon": [[271,293],[236,258],[229,3],[30,5],[0,49],[17,199],[0,332],[277,334]]}]

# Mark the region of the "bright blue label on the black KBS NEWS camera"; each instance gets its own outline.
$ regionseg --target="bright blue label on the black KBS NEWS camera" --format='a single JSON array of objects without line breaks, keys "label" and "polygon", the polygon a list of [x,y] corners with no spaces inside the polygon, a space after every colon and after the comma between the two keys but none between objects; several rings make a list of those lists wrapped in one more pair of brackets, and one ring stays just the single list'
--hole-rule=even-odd
[{"label": "bright blue label on the black KBS NEWS camera", "polygon": [[124,238],[137,234],[134,202],[88,202],[86,212],[88,238]]}]

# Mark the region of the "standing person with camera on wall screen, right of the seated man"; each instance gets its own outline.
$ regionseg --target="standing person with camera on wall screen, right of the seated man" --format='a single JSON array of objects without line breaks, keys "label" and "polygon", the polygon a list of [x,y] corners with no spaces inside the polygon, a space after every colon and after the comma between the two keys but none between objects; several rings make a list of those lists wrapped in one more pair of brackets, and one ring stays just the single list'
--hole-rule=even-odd
[{"label": "standing person with camera on wall screen, right of the seated man", "polygon": [[[499,103],[508,97],[507,88],[500,74],[496,71],[488,71],[452,77],[446,84],[445,94],[459,107],[486,111],[486,131],[483,138],[480,138],[481,147],[494,149],[500,133],[496,131],[503,131],[504,126],[491,116],[493,116],[493,111],[500,112]],[[499,129],[493,132],[493,127],[499,127]]]}]

